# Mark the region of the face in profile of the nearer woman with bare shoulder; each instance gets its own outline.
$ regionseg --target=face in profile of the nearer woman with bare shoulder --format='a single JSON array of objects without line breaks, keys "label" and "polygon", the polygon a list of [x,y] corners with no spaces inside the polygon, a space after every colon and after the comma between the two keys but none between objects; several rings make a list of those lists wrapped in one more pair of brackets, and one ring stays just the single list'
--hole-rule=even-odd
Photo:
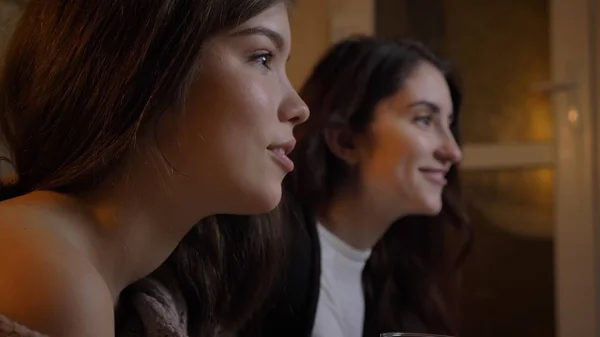
[{"label": "face in profile of the nearer woman with bare shoulder", "polygon": [[293,168],[285,155],[293,128],[308,118],[286,74],[290,49],[284,2],[207,42],[183,115],[167,114],[160,126],[182,202],[193,207],[208,189],[217,213],[263,213],[279,203]]}]

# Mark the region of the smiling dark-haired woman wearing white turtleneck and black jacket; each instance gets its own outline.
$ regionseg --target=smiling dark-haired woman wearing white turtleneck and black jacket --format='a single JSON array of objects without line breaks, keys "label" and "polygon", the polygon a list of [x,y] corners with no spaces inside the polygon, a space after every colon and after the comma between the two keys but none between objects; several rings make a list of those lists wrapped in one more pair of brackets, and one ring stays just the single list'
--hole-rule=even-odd
[{"label": "smiling dark-haired woman wearing white turtleneck and black jacket", "polygon": [[[455,332],[456,267],[469,241],[460,200],[461,97],[447,64],[407,40],[350,38],[300,91],[284,181],[285,280],[264,336]],[[456,231],[451,230],[454,228]]]}]

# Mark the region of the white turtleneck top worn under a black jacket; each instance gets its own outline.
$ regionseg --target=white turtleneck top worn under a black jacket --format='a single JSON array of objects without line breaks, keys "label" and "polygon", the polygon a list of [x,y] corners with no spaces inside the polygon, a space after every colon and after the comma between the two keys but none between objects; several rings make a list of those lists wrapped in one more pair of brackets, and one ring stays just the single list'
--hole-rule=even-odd
[{"label": "white turtleneck top worn under a black jacket", "polygon": [[313,337],[362,337],[365,298],[362,271],[371,250],[357,250],[320,223],[321,289]]}]

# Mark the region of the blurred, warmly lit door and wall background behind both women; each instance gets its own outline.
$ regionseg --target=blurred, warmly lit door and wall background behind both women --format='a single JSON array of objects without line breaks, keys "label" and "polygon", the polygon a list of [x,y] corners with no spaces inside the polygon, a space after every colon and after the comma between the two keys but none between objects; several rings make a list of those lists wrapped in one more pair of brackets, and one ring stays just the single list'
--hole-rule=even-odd
[{"label": "blurred, warmly lit door and wall background behind both women", "polygon": [[[0,0],[0,48],[18,8]],[[298,0],[294,86],[355,33],[420,39],[461,75],[462,336],[600,337],[600,0]]]}]

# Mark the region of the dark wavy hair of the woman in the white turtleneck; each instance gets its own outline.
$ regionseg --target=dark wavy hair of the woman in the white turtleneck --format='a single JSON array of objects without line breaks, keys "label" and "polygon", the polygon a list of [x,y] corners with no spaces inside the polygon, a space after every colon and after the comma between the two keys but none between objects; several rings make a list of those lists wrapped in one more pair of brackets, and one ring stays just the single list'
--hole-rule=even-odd
[{"label": "dark wavy hair of the woman in the white turtleneck", "polygon": [[[449,65],[422,44],[357,36],[333,46],[316,65],[300,90],[311,117],[297,128],[300,141],[292,153],[297,168],[286,180],[302,209],[316,213],[327,207],[348,178],[347,165],[330,151],[323,130],[343,126],[364,132],[377,103],[402,89],[423,62],[438,68],[448,82],[455,113],[451,128],[458,141],[460,91]],[[456,267],[469,246],[470,230],[456,166],[447,178],[439,215],[401,218],[373,248],[363,273],[365,336],[455,332]],[[456,252],[448,242],[453,233],[460,234]]]}]

